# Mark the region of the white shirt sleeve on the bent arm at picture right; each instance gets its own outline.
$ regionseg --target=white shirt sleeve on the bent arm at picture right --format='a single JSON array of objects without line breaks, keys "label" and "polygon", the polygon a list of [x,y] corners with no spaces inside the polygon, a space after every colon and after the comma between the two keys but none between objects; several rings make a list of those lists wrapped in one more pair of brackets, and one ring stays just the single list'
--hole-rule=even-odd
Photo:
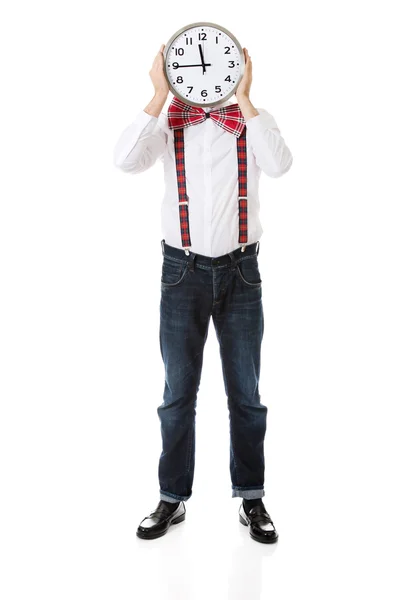
[{"label": "white shirt sleeve on the bent arm at picture right", "polygon": [[260,169],[270,177],[280,177],[292,166],[293,157],[272,115],[264,108],[246,121],[247,138]]}]

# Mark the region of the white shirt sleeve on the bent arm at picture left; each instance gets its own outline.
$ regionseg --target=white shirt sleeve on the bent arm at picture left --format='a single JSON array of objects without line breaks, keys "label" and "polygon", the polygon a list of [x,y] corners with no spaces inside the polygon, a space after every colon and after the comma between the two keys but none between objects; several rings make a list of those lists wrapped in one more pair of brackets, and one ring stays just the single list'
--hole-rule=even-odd
[{"label": "white shirt sleeve on the bent arm at picture left", "polygon": [[142,173],[163,159],[167,135],[158,117],[140,111],[120,135],[114,148],[114,165],[127,173]]}]

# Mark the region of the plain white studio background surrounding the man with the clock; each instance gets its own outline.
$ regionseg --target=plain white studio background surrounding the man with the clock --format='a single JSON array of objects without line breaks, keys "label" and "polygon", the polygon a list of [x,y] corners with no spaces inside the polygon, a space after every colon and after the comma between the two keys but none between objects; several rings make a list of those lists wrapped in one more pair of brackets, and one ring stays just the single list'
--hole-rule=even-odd
[{"label": "plain white studio background surrounding the man with the clock", "polygon": [[[394,2],[8,2],[1,18],[1,597],[399,597]],[[140,10],[140,12],[139,12]],[[292,169],[262,175],[268,406],[259,544],[231,498],[210,326],[187,518],[158,502],[162,165],[114,145],[182,26],[229,29]],[[170,99],[171,99],[170,95]]]}]

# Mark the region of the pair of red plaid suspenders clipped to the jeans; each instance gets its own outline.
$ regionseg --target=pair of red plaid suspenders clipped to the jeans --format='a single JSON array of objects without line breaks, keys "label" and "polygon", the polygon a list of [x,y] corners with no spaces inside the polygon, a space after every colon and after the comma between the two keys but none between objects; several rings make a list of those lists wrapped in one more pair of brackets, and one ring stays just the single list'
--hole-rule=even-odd
[{"label": "pair of red plaid suspenders clipped to the jeans", "polygon": [[[186,193],[185,172],[185,138],[183,128],[174,129],[174,147],[176,177],[178,182],[179,221],[181,226],[182,247],[189,254],[191,247],[189,232],[189,197]],[[238,243],[244,252],[247,244],[247,149],[246,127],[240,137],[236,138],[238,161],[238,212],[239,212],[239,239]]]}]

